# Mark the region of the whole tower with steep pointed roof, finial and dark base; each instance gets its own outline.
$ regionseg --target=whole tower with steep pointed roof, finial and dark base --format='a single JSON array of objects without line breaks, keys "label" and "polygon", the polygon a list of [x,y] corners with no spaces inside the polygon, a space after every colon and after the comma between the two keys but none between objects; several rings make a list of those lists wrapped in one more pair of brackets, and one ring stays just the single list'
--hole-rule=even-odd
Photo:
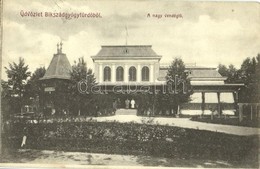
[{"label": "whole tower with steep pointed roof, finial and dark base", "polygon": [[57,44],[57,53],[53,55],[45,75],[40,79],[43,88],[41,106],[47,115],[59,114],[62,109],[66,109],[72,68],[66,54],[62,52],[62,45],[62,42]]}]

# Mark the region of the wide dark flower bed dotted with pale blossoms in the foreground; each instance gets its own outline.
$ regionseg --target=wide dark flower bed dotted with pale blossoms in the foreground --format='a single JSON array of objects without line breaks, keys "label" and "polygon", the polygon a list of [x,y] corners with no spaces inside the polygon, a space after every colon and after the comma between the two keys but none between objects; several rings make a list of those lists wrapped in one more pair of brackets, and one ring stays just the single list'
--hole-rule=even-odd
[{"label": "wide dark flower bed dotted with pale blossoms in the foreground", "polygon": [[[21,144],[23,125],[15,124],[9,146]],[[27,148],[199,158],[257,163],[258,137],[234,136],[172,126],[79,122],[28,124]],[[11,137],[11,136],[10,136]]]}]

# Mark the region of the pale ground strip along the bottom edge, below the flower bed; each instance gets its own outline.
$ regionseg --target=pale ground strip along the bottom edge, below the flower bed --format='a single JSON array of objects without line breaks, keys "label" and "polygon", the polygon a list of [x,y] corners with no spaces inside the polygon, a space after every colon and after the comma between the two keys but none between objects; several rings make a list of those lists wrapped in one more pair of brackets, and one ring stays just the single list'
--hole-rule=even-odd
[{"label": "pale ground strip along the bottom edge, below the flower bed", "polygon": [[[5,156],[5,158],[8,158]],[[6,162],[9,162],[6,163]],[[10,163],[13,163],[10,165]],[[17,163],[17,164],[15,164]],[[18,163],[23,163],[18,164]],[[50,167],[50,168],[133,168],[137,166],[144,168],[157,167],[235,167],[221,160],[202,159],[173,159],[151,156],[133,156],[119,154],[101,154],[86,152],[64,152],[51,150],[31,150],[20,149],[13,158],[9,157],[5,163],[0,163],[2,167]],[[153,167],[151,167],[153,166]],[[245,167],[248,167],[245,165]]]}]

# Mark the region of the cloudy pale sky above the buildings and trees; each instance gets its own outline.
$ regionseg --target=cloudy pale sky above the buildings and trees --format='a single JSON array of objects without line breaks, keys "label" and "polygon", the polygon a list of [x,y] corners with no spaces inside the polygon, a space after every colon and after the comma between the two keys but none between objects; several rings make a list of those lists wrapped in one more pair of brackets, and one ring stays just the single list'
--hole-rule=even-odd
[{"label": "cloudy pale sky above the buildings and trees", "polygon": [[[180,57],[187,64],[239,68],[245,58],[260,53],[256,2],[4,0],[3,6],[3,79],[4,67],[19,57],[31,72],[47,68],[60,41],[71,64],[84,57],[89,68],[93,68],[91,56],[102,45],[125,45],[126,39],[128,45],[152,45],[162,56],[161,64]],[[26,12],[43,17],[24,16]],[[65,19],[45,17],[45,12],[100,13],[101,17]]]}]

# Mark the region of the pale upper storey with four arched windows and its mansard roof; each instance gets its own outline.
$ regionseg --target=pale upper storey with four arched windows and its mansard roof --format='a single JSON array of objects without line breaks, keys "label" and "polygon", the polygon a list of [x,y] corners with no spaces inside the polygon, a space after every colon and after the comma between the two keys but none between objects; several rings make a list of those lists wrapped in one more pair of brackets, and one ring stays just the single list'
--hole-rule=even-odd
[{"label": "pale upper storey with four arched windows and its mansard roof", "polygon": [[156,83],[159,62],[152,46],[102,46],[92,56],[97,82],[102,84]]}]

